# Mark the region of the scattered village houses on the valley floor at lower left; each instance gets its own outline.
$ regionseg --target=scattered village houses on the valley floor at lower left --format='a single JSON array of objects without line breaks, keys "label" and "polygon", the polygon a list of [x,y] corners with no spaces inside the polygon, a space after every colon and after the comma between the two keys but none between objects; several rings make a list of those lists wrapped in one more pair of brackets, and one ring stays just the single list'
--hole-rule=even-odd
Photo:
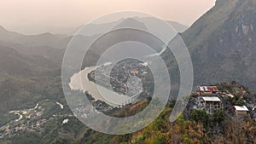
[{"label": "scattered village houses on the valley floor at lower left", "polygon": [[[113,109],[103,101],[94,100],[88,93],[85,95],[88,95],[96,111],[108,112]],[[88,110],[90,109],[86,109],[86,107],[78,107],[77,109],[81,114],[90,112]],[[18,118],[0,127],[0,138],[13,137],[23,130],[41,134],[44,131],[44,124],[47,122],[62,119],[60,124],[65,125],[69,122],[69,118],[74,117],[73,112],[68,107],[64,107],[60,102],[49,101],[48,99],[38,102],[35,107],[10,111],[9,113],[17,115]]]}]

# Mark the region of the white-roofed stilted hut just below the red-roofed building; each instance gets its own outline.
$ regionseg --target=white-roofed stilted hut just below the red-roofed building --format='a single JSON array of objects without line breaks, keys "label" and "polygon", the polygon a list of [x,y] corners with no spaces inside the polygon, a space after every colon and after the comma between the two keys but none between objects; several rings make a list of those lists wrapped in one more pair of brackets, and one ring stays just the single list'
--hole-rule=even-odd
[{"label": "white-roofed stilted hut just below the red-roofed building", "polygon": [[217,96],[201,97],[201,103],[208,114],[213,114],[216,110],[223,108],[223,103]]}]

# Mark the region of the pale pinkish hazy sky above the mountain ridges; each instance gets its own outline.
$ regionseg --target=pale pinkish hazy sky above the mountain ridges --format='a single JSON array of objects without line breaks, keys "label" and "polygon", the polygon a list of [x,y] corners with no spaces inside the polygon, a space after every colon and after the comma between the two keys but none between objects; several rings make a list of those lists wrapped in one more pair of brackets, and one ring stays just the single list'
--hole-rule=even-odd
[{"label": "pale pinkish hazy sky above the mountain ridges", "polygon": [[215,0],[1,0],[0,26],[36,34],[68,32],[102,14],[138,10],[190,26]]}]

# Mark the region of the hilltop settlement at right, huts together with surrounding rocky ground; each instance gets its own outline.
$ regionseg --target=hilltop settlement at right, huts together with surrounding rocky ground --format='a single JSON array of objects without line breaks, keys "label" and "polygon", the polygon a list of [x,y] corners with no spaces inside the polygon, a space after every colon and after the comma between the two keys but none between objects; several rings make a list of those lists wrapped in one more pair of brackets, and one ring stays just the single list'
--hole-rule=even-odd
[{"label": "hilltop settlement at right, huts together with surrounding rocky ground", "polygon": [[[238,118],[247,117],[256,120],[256,104],[246,100],[244,88],[238,89],[241,90],[241,95],[221,91],[217,86],[198,86],[192,94],[192,99],[195,100],[193,109],[205,110],[210,115],[218,110],[226,110]],[[237,101],[232,102],[235,99]]]}]

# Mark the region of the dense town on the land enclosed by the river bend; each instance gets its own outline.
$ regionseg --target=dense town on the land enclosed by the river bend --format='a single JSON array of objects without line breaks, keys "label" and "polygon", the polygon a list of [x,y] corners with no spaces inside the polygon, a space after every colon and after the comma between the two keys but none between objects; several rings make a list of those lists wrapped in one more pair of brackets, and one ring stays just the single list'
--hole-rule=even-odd
[{"label": "dense town on the land enclosed by the river bend", "polygon": [[[88,78],[105,88],[113,89],[115,92],[126,95],[128,92],[127,79],[131,76],[136,76],[142,81],[148,77],[147,63],[142,63],[137,60],[128,59],[120,61],[113,66],[112,63],[108,65],[98,66],[96,71],[89,73]],[[112,68],[113,67],[113,68]],[[111,72],[109,73],[109,69]],[[109,85],[109,80],[110,84]],[[129,89],[129,93],[137,94],[140,91],[140,85],[137,82],[131,82],[134,89]],[[144,93],[150,95],[148,89],[144,89]]]}]

